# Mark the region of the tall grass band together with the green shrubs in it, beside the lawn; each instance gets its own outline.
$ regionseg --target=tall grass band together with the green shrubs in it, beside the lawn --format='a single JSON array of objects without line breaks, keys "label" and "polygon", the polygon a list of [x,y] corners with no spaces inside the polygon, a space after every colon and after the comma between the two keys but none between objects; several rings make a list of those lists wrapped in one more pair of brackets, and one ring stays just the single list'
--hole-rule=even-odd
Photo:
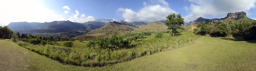
[{"label": "tall grass band together with the green shrubs in it, beside the lawn", "polygon": [[[143,36],[139,34],[143,34]],[[31,51],[35,51],[66,64],[105,66],[168,49],[186,46],[194,43],[198,37],[198,35],[193,35],[190,31],[185,31],[175,37],[170,37],[170,33],[165,33],[162,38],[155,38],[154,35],[149,35],[148,32],[135,33],[127,36],[112,35],[109,38],[98,37],[95,41],[89,41],[89,43],[93,45],[87,43],[88,47],[84,49],[71,49],[69,47],[52,45],[32,45],[23,41],[18,41],[18,44]],[[118,40],[118,42],[114,40]],[[124,42],[130,45],[124,45]],[[91,47],[94,49],[91,49]]]}]

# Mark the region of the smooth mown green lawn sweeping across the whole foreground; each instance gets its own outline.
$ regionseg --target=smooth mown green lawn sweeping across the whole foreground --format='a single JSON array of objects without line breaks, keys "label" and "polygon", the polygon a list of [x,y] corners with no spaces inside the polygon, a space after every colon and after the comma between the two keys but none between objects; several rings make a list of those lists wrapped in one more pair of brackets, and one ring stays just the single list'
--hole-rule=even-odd
[{"label": "smooth mown green lawn sweeping across the whole foreground", "polygon": [[196,43],[104,67],[63,64],[0,40],[0,70],[256,70],[256,41],[202,36]]}]

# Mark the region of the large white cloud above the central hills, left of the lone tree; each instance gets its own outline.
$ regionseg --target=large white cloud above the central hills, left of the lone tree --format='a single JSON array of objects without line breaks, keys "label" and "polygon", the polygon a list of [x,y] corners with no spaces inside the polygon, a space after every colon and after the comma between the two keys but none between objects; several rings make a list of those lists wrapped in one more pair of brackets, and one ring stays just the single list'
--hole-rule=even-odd
[{"label": "large white cloud above the central hills, left of the lone tree", "polygon": [[[153,0],[151,0],[153,1]],[[154,1],[155,2],[155,1]],[[141,8],[138,12],[135,12],[127,8],[119,8],[116,12],[123,12],[122,16],[125,18],[126,22],[139,22],[139,21],[160,21],[166,20],[166,16],[170,13],[176,13],[174,10],[168,7],[168,3],[164,0],[158,0],[162,5],[148,5],[146,2],[143,2],[144,7]],[[153,2],[152,2],[153,3]]]}]

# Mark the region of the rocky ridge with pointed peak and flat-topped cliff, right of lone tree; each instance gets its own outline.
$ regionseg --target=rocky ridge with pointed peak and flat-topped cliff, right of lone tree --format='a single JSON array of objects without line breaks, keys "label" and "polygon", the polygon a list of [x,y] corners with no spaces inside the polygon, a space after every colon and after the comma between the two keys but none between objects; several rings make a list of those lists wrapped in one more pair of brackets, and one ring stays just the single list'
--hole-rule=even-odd
[{"label": "rocky ridge with pointed peak and flat-topped cliff, right of lone tree", "polygon": [[202,23],[206,23],[206,20],[209,20],[209,22],[213,22],[213,23],[216,23],[220,20],[225,20],[227,18],[230,18],[230,19],[235,19],[235,18],[241,18],[241,17],[247,17],[247,14],[246,12],[235,12],[235,13],[228,13],[227,14],[227,17],[224,17],[224,18],[214,18],[214,19],[205,19],[203,17],[199,17],[198,19],[194,20],[193,22],[189,22],[189,24],[202,24]]}]

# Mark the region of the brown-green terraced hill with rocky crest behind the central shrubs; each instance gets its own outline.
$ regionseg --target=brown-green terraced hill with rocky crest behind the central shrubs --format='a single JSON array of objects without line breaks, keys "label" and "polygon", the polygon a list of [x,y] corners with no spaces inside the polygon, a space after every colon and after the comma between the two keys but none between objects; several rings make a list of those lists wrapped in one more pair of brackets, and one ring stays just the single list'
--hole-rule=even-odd
[{"label": "brown-green terraced hill with rocky crest behind the central shrubs", "polygon": [[127,22],[109,22],[101,28],[90,31],[87,35],[102,33],[102,34],[117,34],[125,35],[130,33],[131,30],[138,28],[137,26]]}]

